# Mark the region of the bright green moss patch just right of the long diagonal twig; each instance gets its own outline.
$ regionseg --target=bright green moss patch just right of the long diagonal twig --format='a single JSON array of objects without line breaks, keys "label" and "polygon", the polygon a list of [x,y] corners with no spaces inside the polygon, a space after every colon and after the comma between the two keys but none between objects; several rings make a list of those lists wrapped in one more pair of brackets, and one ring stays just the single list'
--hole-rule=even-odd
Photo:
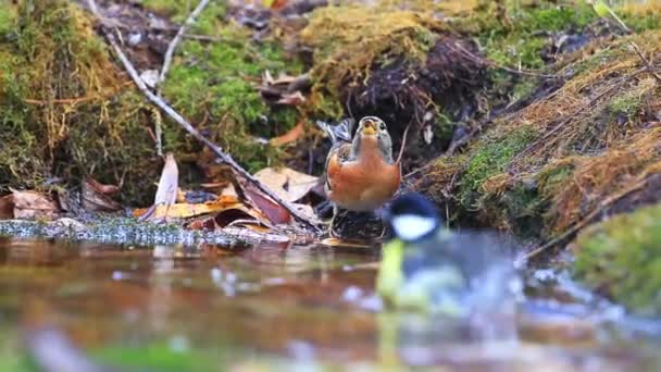
[{"label": "bright green moss patch just right of the long diagonal twig", "polygon": [[[188,15],[186,3],[144,2],[175,21]],[[179,45],[163,95],[249,171],[257,171],[275,161],[277,154],[257,137],[287,132],[299,114],[290,107],[264,103],[255,82],[265,71],[300,74],[302,65],[275,40],[254,41],[249,30],[224,18],[225,5],[221,3],[213,2],[202,12],[191,33],[214,41],[186,39]]]}]

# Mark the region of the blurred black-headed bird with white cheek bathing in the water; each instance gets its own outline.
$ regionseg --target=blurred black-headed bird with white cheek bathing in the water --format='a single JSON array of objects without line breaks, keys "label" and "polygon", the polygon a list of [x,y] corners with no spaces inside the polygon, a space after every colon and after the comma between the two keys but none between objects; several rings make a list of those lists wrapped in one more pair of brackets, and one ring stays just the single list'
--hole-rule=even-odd
[{"label": "blurred black-headed bird with white cheek bathing in the water", "polygon": [[382,248],[376,277],[385,306],[461,317],[500,309],[517,296],[512,246],[499,236],[450,231],[434,203],[416,193],[396,198],[385,220],[395,235]]}]

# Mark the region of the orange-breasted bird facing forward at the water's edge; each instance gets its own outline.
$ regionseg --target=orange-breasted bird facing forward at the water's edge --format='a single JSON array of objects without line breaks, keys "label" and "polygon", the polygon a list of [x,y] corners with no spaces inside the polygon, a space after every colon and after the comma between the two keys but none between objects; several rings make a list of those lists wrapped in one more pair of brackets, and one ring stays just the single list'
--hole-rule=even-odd
[{"label": "orange-breasted bird facing forward at the water's edge", "polygon": [[334,216],[337,208],[373,212],[390,200],[399,189],[401,169],[400,159],[392,158],[392,138],[386,123],[364,116],[352,138],[350,120],[335,127],[317,124],[333,141],[326,157],[324,190],[336,207]]}]

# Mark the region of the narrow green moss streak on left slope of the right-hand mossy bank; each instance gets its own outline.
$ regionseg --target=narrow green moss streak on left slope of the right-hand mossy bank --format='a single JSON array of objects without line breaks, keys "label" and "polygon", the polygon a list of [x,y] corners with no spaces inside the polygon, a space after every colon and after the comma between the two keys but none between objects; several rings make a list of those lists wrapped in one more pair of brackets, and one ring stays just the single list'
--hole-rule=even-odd
[{"label": "narrow green moss streak on left slope of the right-hand mossy bank", "polygon": [[489,177],[502,173],[510,160],[536,137],[536,131],[522,126],[496,138],[483,138],[474,147],[465,173],[461,181],[461,201],[471,208],[479,194],[479,188]]}]

